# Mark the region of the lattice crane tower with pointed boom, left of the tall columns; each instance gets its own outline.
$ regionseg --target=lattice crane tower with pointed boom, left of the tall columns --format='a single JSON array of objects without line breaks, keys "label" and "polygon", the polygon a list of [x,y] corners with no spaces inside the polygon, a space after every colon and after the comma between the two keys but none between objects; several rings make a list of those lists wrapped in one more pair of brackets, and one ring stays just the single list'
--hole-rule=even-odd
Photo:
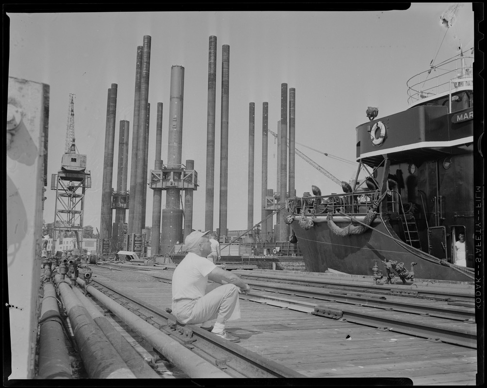
[{"label": "lattice crane tower with pointed boom, left of the tall columns", "polygon": [[82,253],[83,210],[87,188],[91,187],[91,173],[86,169],[86,155],[77,153],[75,146],[74,94],[69,95],[68,125],[61,169],[51,175],[51,190],[56,190],[54,215],[53,253],[56,242],[61,243],[64,235],[74,233],[75,248]]}]

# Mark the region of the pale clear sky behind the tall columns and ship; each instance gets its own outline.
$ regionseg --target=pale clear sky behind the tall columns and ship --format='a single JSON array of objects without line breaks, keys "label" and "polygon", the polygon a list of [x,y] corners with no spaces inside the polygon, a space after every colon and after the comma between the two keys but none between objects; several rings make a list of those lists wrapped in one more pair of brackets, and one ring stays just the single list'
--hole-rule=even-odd
[{"label": "pale clear sky behind the tall columns and ship", "polygon": [[[130,122],[131,154],[135,62],[144,35],[151,37],[149,169],[155,159],[156,106],[163,103],[162,160],[168,155],[169,84],[173,65],[185,68],[182,161],[194,160],[193,229],[205,227],[208,39],[217,37],[214,226],[219,227],[222,45],[230,46],[229,230],[247,229],[249,103],[255,103],[254,223],[261,221],[262,103],[277,132],[281,84],[296,89],[296,148],[336,176],[355,177],[356,127],[408,108],[406,81],[434,63],[474,45],[471,3],[462,3],[447,29],[440,16],[453,3],[412,3],[392,11],[199,11],[7,13],[9,76],[50,86],[48,182],[61,164],[69,94],[75,94],[76,147],[87,155],[92,188],[84,225],[100,228],[107,91],[117,84],[113,187],[120,120]],[[310,149],[313,148],[313,149]],[[319,152],[318,152],[319,151]],[[276,187],[277,144],[269,136],[268,187]],[[328,153],[331,156],[325,156]],[[341,192],[333,181],[296,156],[296,191]],[[130,164],[129,164],[130,184]],[[46,191],[44,220],[53,222],[55,191]],[[163,207],[165,194],[163,194]],[[146,224],[152,220],[147,190]],[[114,215],[113,215],[114,220]]]}]

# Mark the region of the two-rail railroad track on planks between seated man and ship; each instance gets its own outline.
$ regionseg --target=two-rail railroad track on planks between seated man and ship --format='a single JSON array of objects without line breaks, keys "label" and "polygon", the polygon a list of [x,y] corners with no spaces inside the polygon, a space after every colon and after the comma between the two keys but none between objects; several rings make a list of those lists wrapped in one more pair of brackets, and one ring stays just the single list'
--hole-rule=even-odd
[{"label": "two-rail railroad track on planks between seated man and ship", "polygon": [[[169,274],[156,276],[170,282]],[[477,348],[473,308],[433,306],[424,299],[389,300],[386,296],[357,294],[356,291],[325,291],[316,287],[250,280],[252,292],[241,296],[253,302],[321,315],[381,330],[404,333],[434,342]],[[257,293],[256,291],[260,291]],[[290,296],[275,296],[277,293]],[[400,296],[393,296],[398,299]]]}]

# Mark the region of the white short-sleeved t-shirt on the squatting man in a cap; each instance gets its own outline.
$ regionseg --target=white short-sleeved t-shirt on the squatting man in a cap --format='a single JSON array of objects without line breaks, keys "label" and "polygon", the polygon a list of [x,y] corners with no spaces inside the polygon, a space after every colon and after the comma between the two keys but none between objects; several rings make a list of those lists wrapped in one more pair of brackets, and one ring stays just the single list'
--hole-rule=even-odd
[{"label": "white short-sleeved t-shirt on the squatting man in a cap", "polygon": [[216,268],[206,258],[189,252],[172,275],[172,299],[196,299],[205,295],[208,274]]}]

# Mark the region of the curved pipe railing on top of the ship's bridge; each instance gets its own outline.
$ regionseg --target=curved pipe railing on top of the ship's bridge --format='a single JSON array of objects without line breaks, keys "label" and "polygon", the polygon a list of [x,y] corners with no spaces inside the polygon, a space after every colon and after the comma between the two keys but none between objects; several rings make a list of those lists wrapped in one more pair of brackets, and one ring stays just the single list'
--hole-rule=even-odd
[{"label": "curved pipe railing on top of the ship's bridge", "polygon": [[[437,94],[455,92],[456,89],[472,86],[473,56],[460,56],[431,66],[406,82],[408,87],[408,104]],[[469,62],[469,64],[466,64]],[[463,80],[465,78],[465,80]],[[451,82],[450,82],[451,81]],[[453,85],[453,90],[451,89]]]}]

